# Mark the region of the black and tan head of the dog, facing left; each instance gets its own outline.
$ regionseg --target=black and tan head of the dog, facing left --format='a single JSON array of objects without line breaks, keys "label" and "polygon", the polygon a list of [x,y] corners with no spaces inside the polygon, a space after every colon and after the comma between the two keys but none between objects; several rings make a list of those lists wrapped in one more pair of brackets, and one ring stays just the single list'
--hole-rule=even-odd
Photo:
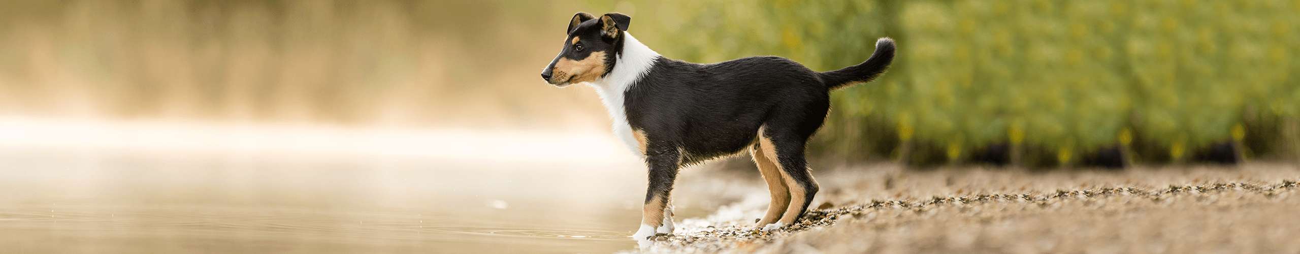
[{"label": "black and tan head of the dog, facing left", "polygon": [[623,13],[607,13],[601,17],[580,12],[573,14],[564,29],[564,47],[542,69],[542,79],[564,87],[571,83],[592,82],[608,74],[618,64],[616,55],[623,49],[623,31],[628,30],[632,17]]}]

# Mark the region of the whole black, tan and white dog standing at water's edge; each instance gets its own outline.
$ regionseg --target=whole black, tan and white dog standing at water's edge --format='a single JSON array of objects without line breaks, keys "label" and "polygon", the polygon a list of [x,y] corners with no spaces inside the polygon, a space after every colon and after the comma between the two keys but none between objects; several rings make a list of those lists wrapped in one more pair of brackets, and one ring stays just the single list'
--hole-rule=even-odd
[{"label": "whole black, tan and white dog standing at water's edge", "polygon": [[577,13],[564,47],[542,70],[555,86],[588,83],[614,117],[614,133],[645,158],[649,188],[633,238],[672,233],[670,194],[677,169],[749,151],[771,190],[764,231],[794,223],[818,191],[803,148],[822,128],[831,90],[867,82],[893,60],[889,38],[867,61],[812,72],[776,56],[716,64],[671,60],[628,34],[632,17]]}]

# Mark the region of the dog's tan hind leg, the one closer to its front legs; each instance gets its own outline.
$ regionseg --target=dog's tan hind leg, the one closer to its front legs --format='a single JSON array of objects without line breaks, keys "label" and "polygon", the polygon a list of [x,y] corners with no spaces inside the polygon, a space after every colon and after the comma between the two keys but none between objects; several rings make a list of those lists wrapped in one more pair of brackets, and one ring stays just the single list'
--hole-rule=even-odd
[{"label": "dog's tan hind leg, the one closer to its front legs", "polygon": [[[763,135],[762,128],[759,128],[758,135]],[[771,142],[757,142],[749,148],[749,155],[754,158],[754,164],[758,165],[758,172],[763,175],[763,181],[767,181],[767,190],[772,194],[772,201],[767,203],[767,214],[763,215],[763,219],[758,220],[758,227],[776,223],[790,205],[790,189],[785,186],[781,168],[776,164],[776,154],[768,152],[776,150],[762,147],[764,143],[771,146]]]}]

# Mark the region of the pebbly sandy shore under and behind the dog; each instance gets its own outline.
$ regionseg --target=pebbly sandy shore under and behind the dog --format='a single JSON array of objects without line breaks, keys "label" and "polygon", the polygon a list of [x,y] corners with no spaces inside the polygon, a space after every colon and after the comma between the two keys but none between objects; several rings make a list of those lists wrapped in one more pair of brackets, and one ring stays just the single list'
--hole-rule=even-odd
[{"label": "pebbly sandy shore under and behind the dog", "polygon": [[1046,172],[875,164],[815,175],[818,208],[797,225],[754,229],[767,198],[749,195],[679,220],[676,234],[640,251],[1300,253],[1294,164]]}]

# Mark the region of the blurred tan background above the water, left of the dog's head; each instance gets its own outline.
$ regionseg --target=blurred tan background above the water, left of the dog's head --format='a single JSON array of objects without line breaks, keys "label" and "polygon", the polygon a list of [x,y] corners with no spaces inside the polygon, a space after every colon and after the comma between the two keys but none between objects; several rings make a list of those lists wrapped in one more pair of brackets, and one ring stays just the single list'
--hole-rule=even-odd
[{"label": "blurred tan background above the water, left of the dog's head", "polygon": [[590,92],[536,77],[576,5],[3,0],[0,115],[595,129]]}]

